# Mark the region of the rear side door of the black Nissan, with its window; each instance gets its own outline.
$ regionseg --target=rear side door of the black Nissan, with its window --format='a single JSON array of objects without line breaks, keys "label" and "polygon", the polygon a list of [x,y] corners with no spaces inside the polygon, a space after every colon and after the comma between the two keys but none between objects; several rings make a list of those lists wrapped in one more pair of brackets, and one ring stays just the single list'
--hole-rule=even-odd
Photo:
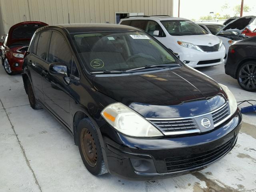
[{"label": "rear side door of the black Nissan, with its window", "polygon": [[28,70],[34,87],[34,94],[42,103],[44,102],[42,69],[47,56],[50,34],[50,31],[36,33],[33,40],[32,52],[28,55]]}]

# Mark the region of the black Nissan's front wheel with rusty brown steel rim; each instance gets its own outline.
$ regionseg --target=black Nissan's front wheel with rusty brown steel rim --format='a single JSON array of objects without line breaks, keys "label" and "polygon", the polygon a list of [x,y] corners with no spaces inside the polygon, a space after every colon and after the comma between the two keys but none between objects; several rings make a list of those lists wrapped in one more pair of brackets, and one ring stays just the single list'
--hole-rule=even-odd
[{"label": "black Nissan's front wheel with rusty brown steel rim", "polygon": [[107,173],[97,131],[89,118],[78,124],[78,148],[84,165],[93,175]]}]

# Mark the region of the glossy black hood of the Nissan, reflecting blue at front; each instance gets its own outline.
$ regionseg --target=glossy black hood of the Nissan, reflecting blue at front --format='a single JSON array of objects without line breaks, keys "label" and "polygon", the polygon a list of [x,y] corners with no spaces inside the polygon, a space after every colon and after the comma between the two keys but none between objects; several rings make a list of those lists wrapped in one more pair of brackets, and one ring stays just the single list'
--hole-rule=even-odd
[{"label": "glossy black hood of the Nissan, reflecting blue at front", "polygon": [[188,66],[147,74],[95,76],[94,88],[146,118],[187,117],[225,102],[218,83]]}]

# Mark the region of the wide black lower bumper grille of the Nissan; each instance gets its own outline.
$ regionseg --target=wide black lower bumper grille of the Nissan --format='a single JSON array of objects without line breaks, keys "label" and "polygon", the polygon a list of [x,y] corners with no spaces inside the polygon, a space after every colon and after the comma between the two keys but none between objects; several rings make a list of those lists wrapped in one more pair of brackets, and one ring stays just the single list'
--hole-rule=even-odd
[{"label": "wide black lower bumper grille of the Nissan", "polygon": [[228,142],[213,148],[212,150],[208,150],[206,152],[200,154],[192,154],[190,156],[180,156],[180,157],[172,157],[166,158],[166,168],[167,172],[177,172],[182,170],[193,169],[196,167],[204,166],[218,158],[222,157],[228,151],[231,150],[236,137],[232,138]]}]

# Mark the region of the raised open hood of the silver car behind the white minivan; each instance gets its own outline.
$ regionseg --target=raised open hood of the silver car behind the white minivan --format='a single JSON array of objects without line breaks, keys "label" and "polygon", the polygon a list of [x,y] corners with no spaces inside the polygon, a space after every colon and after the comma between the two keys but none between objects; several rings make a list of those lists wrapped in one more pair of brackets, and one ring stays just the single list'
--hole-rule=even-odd
[{"label": "raised open hood of the silver car behind the white minivan", "polygon": [[254,21],[255,18],[256,16],[244,16],[237,18],[224,26],[216,35],[226,31],[234,31],[241,34],[244,29]]}]

